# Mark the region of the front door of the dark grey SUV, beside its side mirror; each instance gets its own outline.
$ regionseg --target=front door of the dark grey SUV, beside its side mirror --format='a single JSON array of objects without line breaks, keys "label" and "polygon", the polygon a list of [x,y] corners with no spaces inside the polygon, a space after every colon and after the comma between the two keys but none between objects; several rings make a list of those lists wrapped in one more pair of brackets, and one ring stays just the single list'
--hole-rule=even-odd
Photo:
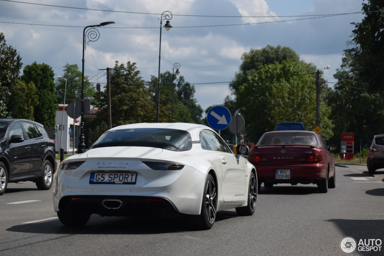
[{"label": "front door of the dark grey SUV, beside its side mirror", "polygon": [[[22,125],[17,122],[12,125],[8,134],[8,141],[12,135],[21,135],[25,138]],[[31,147],[28,142],[9,143],[9,157],[11,161],[11,170],[9,180],[12,176],[26,174],[30,170]]]}]

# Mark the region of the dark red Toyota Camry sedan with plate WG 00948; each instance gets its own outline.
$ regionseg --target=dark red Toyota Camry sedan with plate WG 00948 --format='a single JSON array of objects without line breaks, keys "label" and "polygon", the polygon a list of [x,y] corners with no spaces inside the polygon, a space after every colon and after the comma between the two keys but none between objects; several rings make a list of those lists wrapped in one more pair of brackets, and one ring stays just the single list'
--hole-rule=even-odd
[{"label": "dark red Toyota Camry sedan with plate WG 00948", "polygon": [[319,193],[336,186],[335,161],[314,131],[271,131],[252,148],[248,160],[256,167],[258,189],[273,184],[316,184]]}]

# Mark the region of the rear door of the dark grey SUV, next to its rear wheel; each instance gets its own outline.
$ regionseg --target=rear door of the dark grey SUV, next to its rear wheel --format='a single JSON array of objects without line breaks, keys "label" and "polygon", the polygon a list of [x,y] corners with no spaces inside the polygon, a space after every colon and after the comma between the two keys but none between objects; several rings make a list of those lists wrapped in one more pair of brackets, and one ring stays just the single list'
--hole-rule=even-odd
[{"label": "rear door of the dark grey SUV, next to its rear wheel", "polygon": [[[31,147],[31,166],[30,173],[41,171],[42,161],[44,155],[44,148],[42,147],[42,136],[36,130],[35,125],[29,122],[22,122],[25,131],[25,142]],[[39,138],[40,137],[40,138]]]}]

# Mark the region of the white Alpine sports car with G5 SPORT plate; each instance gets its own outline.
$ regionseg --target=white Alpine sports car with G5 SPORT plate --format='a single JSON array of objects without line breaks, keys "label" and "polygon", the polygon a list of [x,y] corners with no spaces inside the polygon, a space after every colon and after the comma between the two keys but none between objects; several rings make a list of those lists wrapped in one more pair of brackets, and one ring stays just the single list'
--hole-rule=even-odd
[{"label": "white Alpine sports car with G5 SPORT plate", "polygon": [[106,131],[83,154],[60,164],[53,206],[61,223],[84,225],[101,216],[189,214],[212,228],[217,211],[252,215],[255,167],[211,128],[190,123],[139,123]]}]

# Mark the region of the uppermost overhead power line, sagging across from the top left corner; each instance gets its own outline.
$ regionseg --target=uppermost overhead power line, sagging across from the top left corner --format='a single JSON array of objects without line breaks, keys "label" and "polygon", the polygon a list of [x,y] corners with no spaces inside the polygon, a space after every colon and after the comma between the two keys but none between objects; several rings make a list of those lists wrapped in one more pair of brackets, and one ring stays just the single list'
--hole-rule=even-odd
[{"label": "uppermost overhead power line, sagging across from the top left corner", "polygon": [[[136,13],[136,14],[161,15],[161,13],[127,12],[127,11],[103,10],[103,9],[81,8],[81,7],[68,7],[68,6],[61,6],[61,5],[47,5],[47,4],[42,4],[42,3],[20,2],[20,1],[13,1],[13,0],[1,0],[1,1],[14,2],[14,3],[27,3],[27,4],[31,4],[31,5],[44,5],[44,6],[51,6],[51,7],[61,7],[61,8],[80,9],[80,10],[92,10],[92,11],[101,11],[101,12],[120,12],[120,13]],[[274,17],[313,17],[313,16],[332,16],[332,15],[347,15],[347,14],[372,13],[372,12],[382,12],[382,11],[351,12],[351,13],[334,13],[334,14],[314,14],[314,15],[285,15],[285,16],[226,16],[226,15],[189,15],[189,14],[173,14],[173,15],[174,15],[174,16],[189,16],[189,17],[221,17],[221,18],[274,18]]]}]

